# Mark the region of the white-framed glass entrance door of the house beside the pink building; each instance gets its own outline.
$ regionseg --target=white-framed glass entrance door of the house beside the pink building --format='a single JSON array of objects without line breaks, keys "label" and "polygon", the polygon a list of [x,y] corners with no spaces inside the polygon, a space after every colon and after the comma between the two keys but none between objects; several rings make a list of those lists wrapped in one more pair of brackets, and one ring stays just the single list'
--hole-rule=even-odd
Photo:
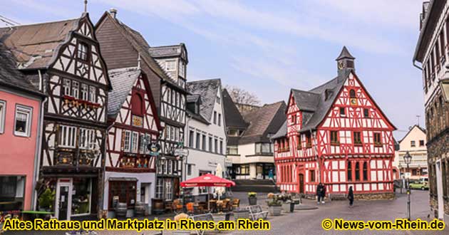
[{"label": "white-framed glass entrance door of the house beside the pink building", "polygon": [[70,220],[72,204],[71,179],[60,179],[56,185],[56,210],[58,220]]}]

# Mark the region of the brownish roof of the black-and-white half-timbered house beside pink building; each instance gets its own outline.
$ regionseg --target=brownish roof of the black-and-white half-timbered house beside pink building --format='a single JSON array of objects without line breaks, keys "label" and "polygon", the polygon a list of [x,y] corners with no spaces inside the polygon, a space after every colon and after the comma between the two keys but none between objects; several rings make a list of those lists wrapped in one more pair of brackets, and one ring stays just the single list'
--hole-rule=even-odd
[{"label": "brownish roof of the black-and-white half-timbered house beside pink building", "polygon": [[47,68],[80,19],[0,28],[0,41],[14,54],[19,68]]}]

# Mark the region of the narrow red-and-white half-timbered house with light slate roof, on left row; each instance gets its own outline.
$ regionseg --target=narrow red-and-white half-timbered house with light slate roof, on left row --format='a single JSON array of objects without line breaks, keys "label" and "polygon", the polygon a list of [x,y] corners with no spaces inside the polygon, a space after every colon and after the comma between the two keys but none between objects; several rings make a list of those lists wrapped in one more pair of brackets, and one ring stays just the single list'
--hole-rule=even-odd
[{"label": "narrow red-and-white half-timbered house with light slate roof, on left row", "polygon": [[138,67],[109,71],[113,91],[109,93],[107,157],[105,160],[105,200],[108,215],[118,202],[134,209],[155,197],[156,156],[148,145],[158,140],[162,130],[150,83]]}]

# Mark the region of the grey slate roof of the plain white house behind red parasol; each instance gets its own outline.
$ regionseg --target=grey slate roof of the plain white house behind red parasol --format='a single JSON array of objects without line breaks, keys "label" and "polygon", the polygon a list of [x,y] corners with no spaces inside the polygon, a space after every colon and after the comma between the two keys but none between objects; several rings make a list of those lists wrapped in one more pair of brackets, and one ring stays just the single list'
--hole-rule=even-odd
[{"label": "grey slate roof of the plain white house behind red parasol", "polygon": [[200,115],[210,122],[214,111],[215,100],[218,90],[221,88],[220,79],[195,80],[187,83],[187,90],[196,95],[200,95]]}]

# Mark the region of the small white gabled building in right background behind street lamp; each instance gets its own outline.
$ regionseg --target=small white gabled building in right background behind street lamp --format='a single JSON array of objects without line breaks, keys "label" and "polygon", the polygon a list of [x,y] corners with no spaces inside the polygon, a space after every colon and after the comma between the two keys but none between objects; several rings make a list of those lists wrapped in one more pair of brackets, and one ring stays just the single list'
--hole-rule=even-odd
[{"label": "small white gabled building in right background behind street lamp", "polygon": [[[420,179],[428,176],[427,169],[427,147],[425,147],[425,130],[414,125],[399,141],[399,150],[396,151],[396,157],[393,162],[393,167],[397,167],[398,178]],[[411,164],[404,162],[404,155],[406,152],[412,156]]]}]

